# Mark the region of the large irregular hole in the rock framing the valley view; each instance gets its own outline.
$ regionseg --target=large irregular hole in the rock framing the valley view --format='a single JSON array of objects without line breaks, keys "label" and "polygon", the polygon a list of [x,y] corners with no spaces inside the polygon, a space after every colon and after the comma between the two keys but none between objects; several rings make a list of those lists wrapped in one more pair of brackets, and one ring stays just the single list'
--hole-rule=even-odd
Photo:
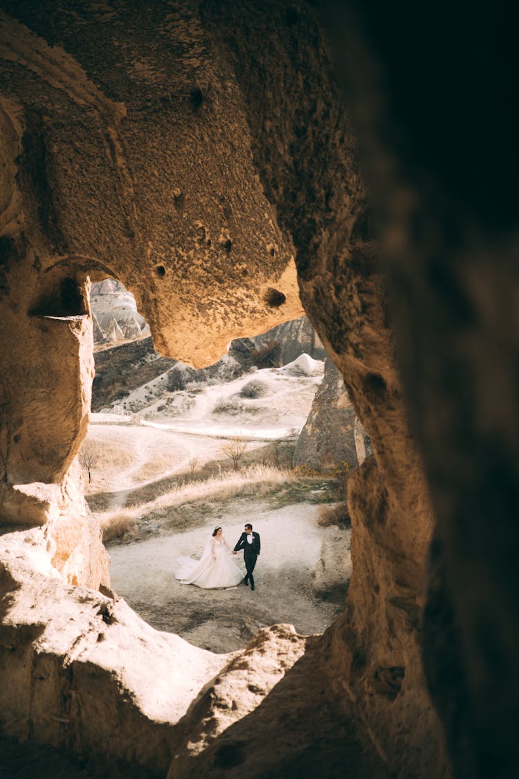
[{"label": "large irregular hole in the rock framing the valley view", "polygon": [[[216,652],[275,622],[323,632],[348,586],[345,483],[358,458],[353,437],[330,439],[329,415],[354,412],[333,390],[319,400],[338,382],[308,320],[234,340],[195,370],[156,354],[120,282],[93,284],[91,305],[96,378],[79,460],[113,589],[152,626]],[[254,591],[244,551],[232,554],[246,521],[261,543]],[[230,550],[206,570],[216,527]],[[175,577],[183,566],[195,583]]]}]

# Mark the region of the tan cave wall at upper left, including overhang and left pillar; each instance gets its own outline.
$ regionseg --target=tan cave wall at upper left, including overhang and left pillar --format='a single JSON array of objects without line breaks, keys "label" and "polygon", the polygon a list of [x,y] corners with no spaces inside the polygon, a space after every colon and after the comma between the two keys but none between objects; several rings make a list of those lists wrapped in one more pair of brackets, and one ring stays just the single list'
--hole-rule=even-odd
[{"label": "tan cave wall at upper left, including overhang and left pillar", "polygon": [[93,379],[89,279],[121,279],[156,348],[206,365],[303,313],[293,249],[195,4],[5,2],[0,20],[0,516],[52,518],[60,569],[100,567],[82,580],[97,587],[107,557],[70,473]]}]

